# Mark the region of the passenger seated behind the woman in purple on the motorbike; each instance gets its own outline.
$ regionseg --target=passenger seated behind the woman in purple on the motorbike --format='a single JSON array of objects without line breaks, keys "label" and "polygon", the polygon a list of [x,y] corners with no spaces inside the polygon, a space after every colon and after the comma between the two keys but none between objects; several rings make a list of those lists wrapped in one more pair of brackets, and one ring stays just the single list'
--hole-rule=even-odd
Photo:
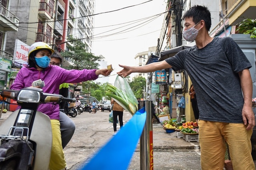
[{"label": "passenger seated behind the woman in purple on the motorbike", "polygon": [[[50,65],[61,66],[61,64],[62,56],[60,53],[55,51],[51,55]],[[64,98],[68,98],[68,83],[60,84],[59,89],[59,94]],[[68,102],[61,102],[60,109],[64,109],[64,111],[68,113]],[[76,130],[75,123],[70,119],[70,117],[68,117],[68,115],[66,115],[66,113],[60,111],[60,133],[63,149],[69,143]]]}]

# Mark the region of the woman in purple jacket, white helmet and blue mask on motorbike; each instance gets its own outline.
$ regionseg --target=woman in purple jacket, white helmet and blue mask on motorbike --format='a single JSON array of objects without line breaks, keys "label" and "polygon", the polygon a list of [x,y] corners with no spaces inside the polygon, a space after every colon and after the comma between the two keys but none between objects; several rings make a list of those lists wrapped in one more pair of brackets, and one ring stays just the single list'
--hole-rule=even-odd
[{"label": "woman in purple jacket, white helmet and blue mask on motorbike", "polygon": [[[19,90],[25,87],[31,87],[32,82],[41,79],[45,84],[45,86],[42,87],[44,92],[58,94],[59,86],[62,83],[79,83],[95,80],[100,74],[108,76],[111,73],[107,68],[98,70],[66,70],[59,66],[49,65],[52,53],[54,53],[54,50],[44,42],[32,44],[28,49],[28,66],[20,69],[10,89]],[[66,161],[60,135],[59,106],[41,104],[38,107],[38,111],[45,113],[51,119],[52,152],[49,169],[65,170]]]}]

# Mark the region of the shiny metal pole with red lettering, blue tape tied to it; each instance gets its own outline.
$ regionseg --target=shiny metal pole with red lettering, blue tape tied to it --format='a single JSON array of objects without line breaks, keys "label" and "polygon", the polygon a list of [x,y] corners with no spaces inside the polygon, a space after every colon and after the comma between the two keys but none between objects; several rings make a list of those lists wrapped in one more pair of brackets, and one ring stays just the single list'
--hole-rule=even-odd
[{"label": "shiny metal pole with red lettering, blue tape tied to it", "polygon": [[140,101],[139,107],[145,106],[147,113],[146,123],[140,137],[140,170],[153,170],[153,128],[152,128],[152,101]]}]

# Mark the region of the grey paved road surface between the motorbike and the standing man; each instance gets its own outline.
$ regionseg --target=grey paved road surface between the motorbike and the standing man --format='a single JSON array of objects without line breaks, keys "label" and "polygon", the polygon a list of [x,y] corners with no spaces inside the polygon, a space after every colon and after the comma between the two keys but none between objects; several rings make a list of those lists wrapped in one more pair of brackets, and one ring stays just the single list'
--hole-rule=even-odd
[{"label": "grey paved road surface between the motorbike and the standing man", "polygon": [[[70,117],[76,123],[76,131],[72,140],[64,149],[69,170],[81,169],[84,163],[88,161],[104,143],[110,140],[113,134],[113,126],[112,123],[108,123],[109,113],[108,111],[98,111],[96,114],[83,112],[75,118]],[[124,112],[125,123],[131,117],[130,113]],[[156,135],[154,135],[154,133],[156,133]],[[187,143],[183,139],[177,139],[174,133],[172,136],[166,133],[160,124],[153,125],[153,138],[154,136],[158,138],[154,139],[157,143],[156,145],[162,145],[162,147],[155,146],[157,149],[154,149],[155,170],[200,170],[200,150],[198,150],[197,142]],[[162,138],[163,144],[159,144],[160,141],[158,140],[161,140],[160,138]],[[174,139],[179,142],[175,142]],[[168,147],[168,145],[173,142],[179,147]],[[166,145],[164,145],[164,143],[166,143]],[[184,147],[181,146],[182,144],[184,144]],[[186,149],[191,147],[193,149]],[[120,154],[122,154],[122,149],[120,149]],[[134,152],[129,170],[140,170],[139,148]]]}]

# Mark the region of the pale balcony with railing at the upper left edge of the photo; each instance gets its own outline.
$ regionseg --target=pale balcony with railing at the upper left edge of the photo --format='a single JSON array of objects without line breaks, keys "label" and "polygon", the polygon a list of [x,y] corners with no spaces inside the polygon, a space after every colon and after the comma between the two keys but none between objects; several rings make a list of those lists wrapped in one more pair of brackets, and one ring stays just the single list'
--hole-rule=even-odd
[{"label": "pale balcony with railing at the upper left edge of the photo", "polygon": [[18,31],[19,21],[20,19],[4,6],[0,6],[0,31]]}]

